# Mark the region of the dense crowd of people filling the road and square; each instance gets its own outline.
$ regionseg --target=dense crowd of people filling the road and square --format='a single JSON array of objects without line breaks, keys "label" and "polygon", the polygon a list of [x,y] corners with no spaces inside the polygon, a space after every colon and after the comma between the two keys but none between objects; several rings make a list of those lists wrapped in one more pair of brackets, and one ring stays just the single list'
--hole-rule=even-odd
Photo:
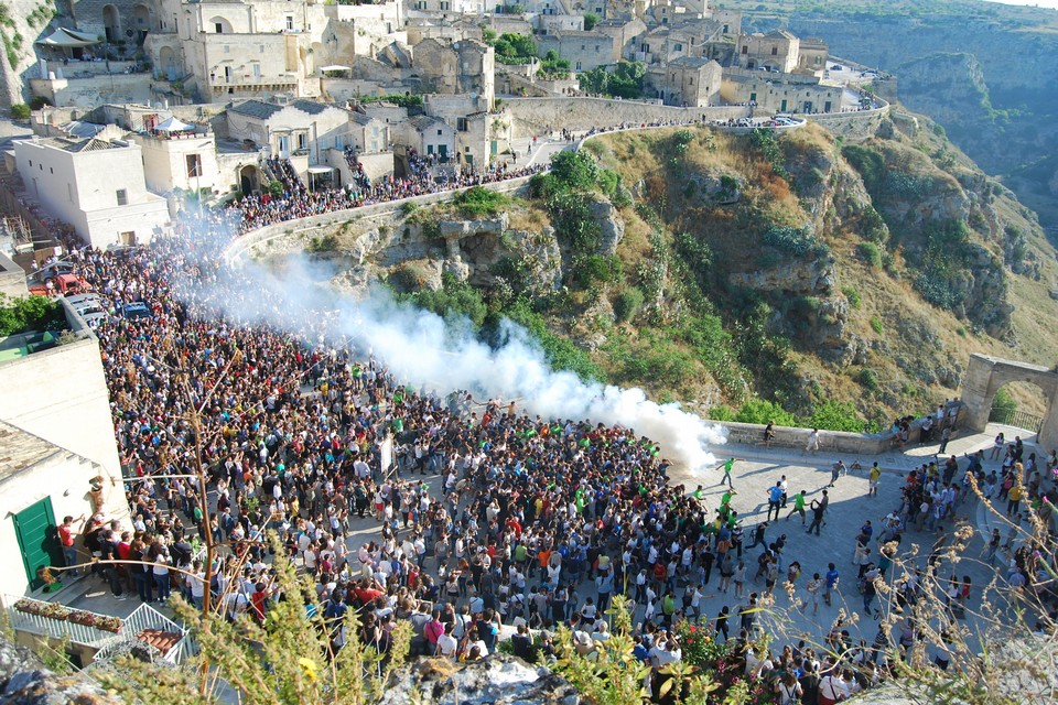
[{"label": "dense crowd of people filling the road and square", "polygon": [[[134,590],[156,601],[179,590],[201,605],[209,590],[229,617],[263,619],[273,600],[284,598],[269,568],[266,536],[274,532],[315,579],[338,649],[349,639],[341,617],[355,609],[359,640],[380,652],[396,623],[408,620],[419,654],[484,658],[510,630],[516,652],[528,653],[535,638],[532,648],[547,654],[559,625],[572,630],[577,651],[591,654],[609,638],[606,610],[623,594],[639,625],[636,654],[656,669],[679,660],[674,631],[692,620],[734,639],[746,673],[769,679],[769,687],[786,693],[784,703],[814,703],[805,699],[813,688],[848,694],[885,677],[890,643],[910,648],[904,630],[914,642],[908,620],[899,638],[879,630],[871,647],[838,625],[828,647],[840,648],[829,655],[803,643],[774,658],[754,647],[758,607],[786,593],[790,607],[814,615],[838,589],[833,563],[808,578],[786,555],[786,535],[768,539],[787,505],[785,478],[768,497],[775,520],[751,531],[733,488],[719,508],[708,507],[701,487],[688,491],[668,481],[661,449],[633,429],[410,389],[344,339],[327,315],[306,316],[293,306],[284,313],[282,301],[272,302],[276,315],[267,324],[240,317],[262,292],[224,263],[219,248],[230,241],[228,232],[307,215],[305,208],[350,207],[433,187],[440,185],[380,180],[370,195],[287,194],[257,202],[268,215],[244,205],[236,221],[230,213],[185,214],[173,236],[149,248],[73,250],[76,271],[114,311],[142,301],[152,313],[115,315],[98,330],[122,467],[140,478],[129,490],[131,525],[97,516],[78,536],[98,557],[142,561],[98,568],[114,594]],[[384,467],[391,447],[392,463]],[[984,475],[982,458],[971,458],[958,479],[954,457],[924,466],[906,478],[904,506],[882,519],[878,535],[870,521],[861,528],[851,562],[859,566],[864,617],[876,612],[877,581],[894,584],[898,603],[919,598],[920,577],[892,570],[895,546],[905,531],[933,531],[930,563],[940,563],[943,522],[971,496],[970,482],[997,487],[1019,510],[1011,492],[1021,484],[1004,487]],[[187,479],[199,459],[205,486]],[[1017,451],[1010,468],[1012,477],[1025,473]],[[1033,473],[1023,475],[1026,499],[1047,511]],[[825,496],[821,507],[820,500],[810,507],[809,531],[819,533]],[[799,513],[806,523],[803,494],[799,503],[797,495],[791,499],[787,521]],[[377,534],[350,543],[361,520],[375,522]],[[745,534],[752,543],[744,546]],[[197,550],[207,539],[225,546],[208,585]],[[998,547],[990,545],[990,560]],[[1008,549],[1012,571],[1032,589],[1050,567],[1049,555],[1032,545]],[[747,592],[746,583],[762,587]],[[954,618],[972,593],[967,579],[952,575],[950,584]],[[710,604],[719,608],[715,616]]]}]

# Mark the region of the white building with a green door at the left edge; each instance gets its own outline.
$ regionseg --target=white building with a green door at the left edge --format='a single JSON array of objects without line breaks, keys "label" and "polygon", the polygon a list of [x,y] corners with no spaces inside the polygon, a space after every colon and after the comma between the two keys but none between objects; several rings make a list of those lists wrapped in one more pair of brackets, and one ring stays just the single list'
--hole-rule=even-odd
[{"label": "white building with a green door at the left edge", "polygon": [[129,516],[99,341],[60,301],[75,340],[47,347],[29,332],[14,341],[24,352],[0,362],[0,593],[8,595],[37,587],[39,567],[64,564],[54,533],[64,516],[90,516],[96,501],[106,519]]}]

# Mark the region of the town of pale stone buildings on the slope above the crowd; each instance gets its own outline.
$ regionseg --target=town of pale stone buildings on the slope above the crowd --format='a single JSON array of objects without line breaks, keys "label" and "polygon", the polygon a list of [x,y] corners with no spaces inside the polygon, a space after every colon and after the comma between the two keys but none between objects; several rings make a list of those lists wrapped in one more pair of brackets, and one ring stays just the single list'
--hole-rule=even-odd
[{"label": "town of pale stone buildings on the slope above the crowd", "polygon": [[[7,73],[33,108],[7,171],[86,242],[145,243],[188,198],[347,195],[528,167],[563,130],[883,105],[823,41],[703,2],[457,4],[78,3]],[[571,107],[587,96],[614,100]],[[100,171],[119,181],[89,193]]]}]

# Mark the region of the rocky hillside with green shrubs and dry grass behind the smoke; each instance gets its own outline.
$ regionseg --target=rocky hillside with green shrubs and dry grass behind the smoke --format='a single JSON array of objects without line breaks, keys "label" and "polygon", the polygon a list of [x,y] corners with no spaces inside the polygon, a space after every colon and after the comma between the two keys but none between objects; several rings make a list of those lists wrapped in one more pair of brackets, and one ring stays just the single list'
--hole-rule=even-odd
[{"label": "rocky hillside with green shrubs and dry grass behind the smoke", "polygon": [[972,351],[1052,362],[1054,248],[925,118],[604,134],[529,191],[410,209],[366,279],[722,419],[877,430],[958,395]]}]

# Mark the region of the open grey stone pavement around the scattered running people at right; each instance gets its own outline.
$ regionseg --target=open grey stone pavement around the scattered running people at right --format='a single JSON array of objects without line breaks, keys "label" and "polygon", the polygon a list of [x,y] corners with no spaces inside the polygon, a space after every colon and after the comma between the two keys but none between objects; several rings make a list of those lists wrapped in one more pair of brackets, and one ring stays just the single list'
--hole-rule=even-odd
[{"label": "open grey stone pavement around the scattered running people at right", "polygon": [[[1047,453],[1044,452],[1043,448],[1036,448],[1033,445],[1035,436],[1029,435],[1028,432],[1024,430],[995,424],[991,424],[986,432],[982,434],[957,434],[957,436],[949,442],[947,453],[939,456],[939,459],[943,459],[949,455],[956,455],[960,459],[960,468],[965,468],[967,460],[963,457],[964,454],[974,453],[980,448],[984,448],[985,457],[987,457],[995,434],[1000,431],[1003,431],[1006,438],[1011,442],[1013,442],[1015,435],[1021,435],[1026,445],[1026,457],[1029,453],[1035,452],[1037,458],[1046,460]],[[939,452],[939,444],[925,446],[910,444],[903,451],[893,449],[888,453],[870,457],[855,457],[850,454],[828,452],[807,454],[800,448],[780,448],[774,446],[766,448],[763,445],[717,446],[711,448],[711,451],[716,455],[716,467],[698,473],[687,470],[673,471],[670,474],[670,479],[673,482],[684,484],[688,491],[693,491],[698,485],[702,485],[705,490],[706,501],[710,502],[711,507],[716,507],[720,505],[721,496],[726,490],[726,486],[720,484],[723,479],[722,463],[730,457],[738,458],[732,471],[735,490],[737,491],[737,495],[732,501],[732,507],[738,511],[742,524],[745,528],[744,545],[746,546],[753,541],[752,534],[754,527],[766,518],[768,510],[767,490],[773,487],[782,475],[786,475],[789,484],[789,506],[782,511],[782,518],[778,522],[771,522],[766,533],[766,541],[769,543],[781,534],[786,534],[787,536],[787,545],[782,554],[784,571],[780,573],[780,585],[782,579],[785,579],[785,568],[791,561],[798,561],[801,564],[801,577],[797,582],[797,587],[799,588],[797,599],[803,599],[803,587],[811,578],[812,573],[818,572],[820,575],[827,573],[828,563],[834,563],[840,572],[840,594],[835,594],[831,607],[827,607],[825,603],[820,600],[819,615],[817,617],[812,617],[810,614],[811,608],[809,608],[809,614],[807,615],[801,615],[797,610],[782,610],[784,615],[781,618],[769,619],[765,616],[758,620],[764,622],[771,621],[776,630],[780,629],[779,625],[781,623],[781,631],[785,632],[785,636],[778,639],[779,648],[781,648],[781,644],[791,640],[796,642],[798,638],[803,638],[810,642],[822,643],[833,621],[838,618],[839,610],[844,610],[846,614],[861,614],[861,622],[848,628],[853,638],[862,638],[870,644],[877,632],[877,622],[873,618],[862,619],[863,598],[855,587],[857,566],[852,565],[855,536],[866,520],[870,520],[875,528],[874,538],[876,539],[878,536],[881,533],[881,519],[890,510],[898,510],[900,507],[900,488],[904,485],[904,478],[907,473],[933,459],[935,454]],[[835,486],[829,489],[830,505],[825,516],[825,524],[821,529],[821,535],[818,538],[814,534],[808,535],[798,516],[795,514],[790,520],[786,519],[794,506],[792,497],[803,489],[808,498],[806,503],[810,503],[812,499],[820,498],[822,496],[822,489],[830,484],[831,466],[839,459],[844,460],[846,466],[852,466],[855,460],[859,460],[863,469],[851,471],[840,477]],[[879,481],[878,496],[867,497],[867,473],[874,462],[878,463],[878,466],[883,469],[883,474]],[[986,459],[984,464],[985,471],[992,468],[998,469],[998,460]],[[957,478],[961,479],[961,473],[957,475]],[[985,545],[981,534],[984,533],[986,535],[991,533],[991,525],[1001,522],[981,505],[982,502],[979,502],[975,498],[968,498],[957,510],[957,520],[972,523],[978,528],[978,533],[965,553],[965,556],[970,560],[961,562],[958,566],[946,567],[941,573],[946,576],[950,575],[952,573],[950,568],[953,567],[953,572],[959,576],[959,579],[961,579],[963,575],[971,577],[973,595],[970,600],[970,609],[967,610],[968,618],[971,621],[973,620],[971,612],[980,606],[982,598],[990,599],[993,604],[996,604],[996,600],[998,600],[998,604],[1005,601],[1005,597],[998,594],[982,594],[982,588],[992,581],[995,571],[986,563],[976,561]],[[810,511],[807,512],[807,514],[808,522],[810,523],[812,514]],[[954,522],[949,519],[942,523],[946,532],[950,536]],[[1005,528],[1006,524],[1003,525],[1004,529],[1001,531],[1005,539],[1007,529]],[[900,552],[905,558],[914,564],[924,565],[926,554],[929,553],[937,535],[936,532],[928,532],[925,529],[919,531],[914,527],[909,527],[908,531],[904,534]],[[918,546],[918,556],[910,558],[909,552],[913,550],[913,545]],[[871,547],[872,558],[874,558],[877,554],[876,542],[872,542]],[[757,556],[760,551],[762,549],[757,547],[745,552],[743,556],[747,568],[746,593],[752,590],[763,592],[763,582],[754,585],[749,579],[756,572]],[[1004,565],[1002,560],[996,563],[1001,567]],[[892,575],[890,573],[890,577]],[[730,606],[732,611],[734,611],[737,606],[745,605],[745,600],[736,600],[734,598],[733,590],[730,595],[717,594],[716,579],[716,577],[713,577],[713,583],[708,586],[709,589],[706,590],[711,597],[704,609],[708,610],[708,615],[711,618],[715,617],[720,607],[724,605]],[[777,609],[791,605],[786,593],[780,589],[780,585],[776,586],[775,607]],[[678,592],[678,595],[681,594],[682,590]],[[874,607],[881,607],[883,610],[887,610],[888,606],[883,603],[884,597],[879,594],[875,598]]]}]

